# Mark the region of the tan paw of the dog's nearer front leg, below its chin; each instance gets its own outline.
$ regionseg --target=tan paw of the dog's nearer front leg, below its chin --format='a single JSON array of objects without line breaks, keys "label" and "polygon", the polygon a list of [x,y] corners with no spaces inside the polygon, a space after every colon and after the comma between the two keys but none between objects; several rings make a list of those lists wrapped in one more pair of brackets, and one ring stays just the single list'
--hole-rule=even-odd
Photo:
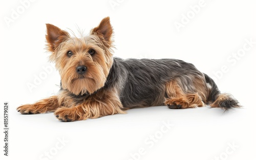
[{"label": "tan paw of the dog's nearer front leg, below its chin", "polygon": [[74,108],[58,108],[54,115],[62,122],[72,122],[77,120],[77,113]]}]

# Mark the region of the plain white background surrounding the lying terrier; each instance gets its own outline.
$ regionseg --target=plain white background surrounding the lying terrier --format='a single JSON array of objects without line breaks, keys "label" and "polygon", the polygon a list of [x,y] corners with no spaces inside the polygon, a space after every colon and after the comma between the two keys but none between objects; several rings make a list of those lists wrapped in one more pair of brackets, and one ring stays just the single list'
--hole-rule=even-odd
[{"label": "plain white background surrounding the lying terrier", "polygon": [[[198,5],[198,0],[38,0],[25,3],[26,8],[23,1],[0,4],[0,159],[256,158],[256,45],[248,49],[246,44],[246,40],[256,41],[253,1],[205,0],[198,13],[190,8]],[[184,20],[187,14],[190,19]],[[193,63],[215,78],[222,92],[233,94],[243,109],[223,113],[208,106],[187,110],[154,106],[70,123],[59,122],[53,113],[17,113],[21,104],[58,93],[59,75],[48,63],[49,53],[44,49],[45,23],[75,33],[80,28],[87,34],[106,16],[115,31],[116,57],[175,58]],[[8,18],[12,21],[6,22]],[[182,18],[186,24],[178,32],[175,22],[181,23]],[[232,57],[238,51],[240,56]],[[44,74],[44,67],[52,69]],[[44,79],[30,90],[28,84],[42,74]],[[10,105],[8,157],[3,152],[5,101]],[[164,122],[172,127],[167,129]]]}]

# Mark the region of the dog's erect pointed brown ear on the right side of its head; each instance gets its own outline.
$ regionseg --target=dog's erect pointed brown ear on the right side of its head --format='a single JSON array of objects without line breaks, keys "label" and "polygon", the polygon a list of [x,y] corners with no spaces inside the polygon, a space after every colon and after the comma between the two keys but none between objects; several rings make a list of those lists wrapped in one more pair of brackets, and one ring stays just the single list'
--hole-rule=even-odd
[{"label": "dog's erect pointed brown ear on the right side of its head", "polygon": [[105,17],[104,19],[102,19],[99,25],[91,31],[91,34],[99,36],[104,43],[109,45],[111,45],[112,43],[112,33],[113,28],[110,24],[110,17]]}]

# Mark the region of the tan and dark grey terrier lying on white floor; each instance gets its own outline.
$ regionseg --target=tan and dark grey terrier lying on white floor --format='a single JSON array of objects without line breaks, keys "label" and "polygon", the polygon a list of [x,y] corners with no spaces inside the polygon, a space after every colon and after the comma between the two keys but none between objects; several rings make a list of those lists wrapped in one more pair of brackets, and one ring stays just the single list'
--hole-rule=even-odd
[{"label": "tan and dark grey terrier lying on white floor", "polygon": [[61,77],[60,91],[19,106],[21,114],[54,112],[58,120],[70,122],[147,106],[187,109],[210,105],[225,111],[241,106],[232,95],[221,93],[193,64],[176,59],[113,57],[109,17],[81,38],[71,37],[52,24],[46,27],[46,46]]}]

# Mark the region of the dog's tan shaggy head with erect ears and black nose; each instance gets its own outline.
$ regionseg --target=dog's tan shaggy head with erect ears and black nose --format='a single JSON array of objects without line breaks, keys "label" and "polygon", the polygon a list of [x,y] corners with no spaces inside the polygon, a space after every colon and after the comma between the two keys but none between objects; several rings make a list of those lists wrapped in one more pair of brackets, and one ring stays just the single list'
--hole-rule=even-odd
[{"label": "dog's tan shaggy head with erect ears and black nose", "polygon": [[101,20],[89,36],[71,37],[52,24],[47,26],[47,49],[52,52],[63,89],[75,95],[93,93],[104,86],[113,65],[110,18]]}]

